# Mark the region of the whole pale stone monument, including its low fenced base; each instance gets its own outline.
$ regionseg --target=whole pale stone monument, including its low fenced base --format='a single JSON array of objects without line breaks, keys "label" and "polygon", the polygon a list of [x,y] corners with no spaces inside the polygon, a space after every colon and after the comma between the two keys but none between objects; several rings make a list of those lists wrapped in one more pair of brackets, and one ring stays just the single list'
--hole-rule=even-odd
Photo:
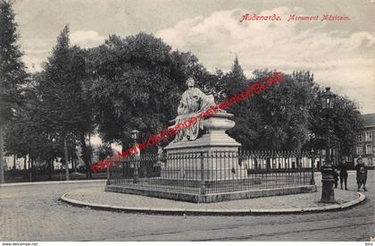
[{"label": "whole pale stone monument, including its low fenced base", "polygon": [[[287,182],[288,179],[279,176],[281,179],[277,180],[276,173],[270,173],[269,181],[267,172],[263,178],[263,171],[267,170],[260,170],[260,175],[252,172],[247,160],[258,157],[239,157],[241,145],[226,133],[235,126],[233,115],[220,110],[212,95],[205,95],[194,86],[195,81],[188,79],[188,89],[179,101],[177,117],[172,120],[174,125],[168,130],[178,131],[175,139],[164,148],[167,157],[159,150],[157,159],[145,156],[116,166],[105,191],[204,203],[316,191],[314,185],[288,187],[286,183],[283,187],[278,181]],[[151,171],[137,182],[131,180],[125,173],[137,162],[157,170],[156,175]],[[287,174],[298,175],[294,171]],[[263,188],[263,181],[270,184],[268,188]],[[276,189],[271,189],[272,185],[276,185]]]}]

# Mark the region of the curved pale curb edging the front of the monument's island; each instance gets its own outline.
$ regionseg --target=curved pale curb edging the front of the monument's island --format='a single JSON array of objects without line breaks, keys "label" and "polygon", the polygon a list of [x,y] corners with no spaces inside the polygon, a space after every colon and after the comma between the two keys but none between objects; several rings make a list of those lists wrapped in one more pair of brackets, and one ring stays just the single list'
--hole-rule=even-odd
[{"label": "curved pale curb edging the front of the monument's island", "polygon": [[333,204],[323,207],[311,208],[279,208],[279,209],[187,209],[187,208],[142,208],[142,207],[121,207],[107,204],[97,204],[84,202],[76,199],[67,198],[68,193],[63,194],[60,200],[77,207],[94,208],[99,210],[117,211],[124,213],[142,213],[153,215],[202,215],[202,216],[255,216],[255,215],[280,215],[280,214],[301,214],[316,213],[326,211],[337,211],[347,208],[353,208],[366,199],[366,197],[357,192],[358,198],[347,201],[343,204]]}]

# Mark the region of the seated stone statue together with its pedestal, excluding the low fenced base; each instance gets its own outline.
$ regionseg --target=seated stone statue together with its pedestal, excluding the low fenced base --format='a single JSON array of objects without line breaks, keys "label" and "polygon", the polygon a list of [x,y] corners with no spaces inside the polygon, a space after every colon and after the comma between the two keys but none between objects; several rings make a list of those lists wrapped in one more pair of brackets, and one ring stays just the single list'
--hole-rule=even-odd
[{"label": "seated stone statue together with its pedestal, excluding the low fenced base", "polygon": [[[236,140],[229,137],[225,132],[235,126],[232,120],[233,115],[219,109],[216,114],[209,118],[202,119],[202,113],[210,107],[216,106],[212,95],[205,95],[195,86],[192,78],[187,79],[188,89],[182,94],[179,101],[178,116],[171,121],[176,124],[182,123],[191,117],[196,117],[198,121],[191,127],[181,130],[176,134],[173,140],[165,147],[167,156],[192,154],[192,157],[185,156],[183,165],[176,165],[168,158],[166,165],[162,166],[161,177],[164,179],[200,179],[210,180],[228,180],[242,178],[246,176],[246,170],[242,170],[241,176],[233,174],[232,170],[238,169],[238,148],[241,146]],[[202,120],[199,120],[202,119]],[[204,166],[201,163],[197,165],[199,156],[204,153]],[[227,157],[210,158],[210,155],[225,154]],[[202,172],[204,174],[202,174]]]}]

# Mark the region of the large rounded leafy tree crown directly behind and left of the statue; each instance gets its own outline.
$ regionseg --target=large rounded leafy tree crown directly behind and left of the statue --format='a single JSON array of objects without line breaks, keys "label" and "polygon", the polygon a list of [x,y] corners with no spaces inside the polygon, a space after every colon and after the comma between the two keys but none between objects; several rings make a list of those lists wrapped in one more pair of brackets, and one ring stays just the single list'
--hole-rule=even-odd
[{"label": "large rounded leafy tree crown directly behind and left of the statue", "polygon": [[131,145],[132,129],[145,138],[166,129],[189,76],[202,84],[212,79],[194,55],[171,51],[162,39],[145,33],[111,36],[90,51],[89,61],[98,131],[104,141],[122,148]]}]

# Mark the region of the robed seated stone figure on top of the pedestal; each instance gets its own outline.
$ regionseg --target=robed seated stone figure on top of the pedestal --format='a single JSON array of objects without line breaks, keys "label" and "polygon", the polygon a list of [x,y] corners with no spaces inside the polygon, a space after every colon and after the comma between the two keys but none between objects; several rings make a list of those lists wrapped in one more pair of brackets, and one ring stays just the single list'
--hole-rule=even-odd
[{"label": "robed seated stone figure on top of the pedestal", "polygon": [[[205,95],[202,90],[194,87],[195,81],[193,78],[187,79],[188,89],[182,94],[179,101],[179,108],[177,110],[176,124],[182,123],[191,117],[199,119],[199,113],[208,109],[210,106],[215,106],[212,95]],[[187,129],[183,129],[176,134],[176,141],[196,140],[201,132],[204,130],[203,121],[196,121]]]}]

